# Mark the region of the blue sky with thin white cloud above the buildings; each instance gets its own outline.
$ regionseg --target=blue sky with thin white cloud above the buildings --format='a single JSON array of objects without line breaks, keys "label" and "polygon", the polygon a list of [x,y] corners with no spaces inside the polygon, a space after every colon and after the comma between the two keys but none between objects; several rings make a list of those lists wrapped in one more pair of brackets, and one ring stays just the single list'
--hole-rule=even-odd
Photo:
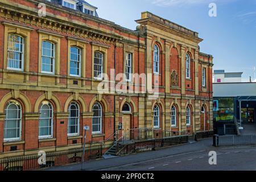
[{"label": "blue sky with thin white cloud above the buildings", "polygon": [[[243,72],[254,78],[256,67],[256,0],[89,0],[98,15],[135,30],[142,11],[150,11],[199,32],[200,51],[214,57],[214,69]],[[210,17],[209,3],[217,5]]]}]

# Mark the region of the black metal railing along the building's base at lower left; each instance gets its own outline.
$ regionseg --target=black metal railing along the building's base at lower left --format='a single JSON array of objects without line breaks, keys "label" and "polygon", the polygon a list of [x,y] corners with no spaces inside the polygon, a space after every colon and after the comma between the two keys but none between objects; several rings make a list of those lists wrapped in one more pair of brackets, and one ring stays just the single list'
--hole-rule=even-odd
[{"label": "black metal railing along the building's base at lower left", "polygon": [[[84,160],[102,157],[102,145],[85,147]],[[65,151],[46,152],[46,164],[40,165],[38,154],[14,156],[0,159],[0,171],[26,171],[31,169],[79,163],[82,160],[82,148]]]}]

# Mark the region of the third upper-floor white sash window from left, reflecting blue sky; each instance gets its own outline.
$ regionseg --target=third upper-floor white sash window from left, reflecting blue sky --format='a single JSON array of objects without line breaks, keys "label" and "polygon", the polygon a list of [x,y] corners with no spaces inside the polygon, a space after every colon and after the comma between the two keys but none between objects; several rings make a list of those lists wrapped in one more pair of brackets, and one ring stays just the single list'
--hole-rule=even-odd
[{"label": "third upper-floor white sash window from left, reflecting blue sky", "polygon": [[77,47],[70,48],[69,74],[71,76],[81,76],[81,49]]}]

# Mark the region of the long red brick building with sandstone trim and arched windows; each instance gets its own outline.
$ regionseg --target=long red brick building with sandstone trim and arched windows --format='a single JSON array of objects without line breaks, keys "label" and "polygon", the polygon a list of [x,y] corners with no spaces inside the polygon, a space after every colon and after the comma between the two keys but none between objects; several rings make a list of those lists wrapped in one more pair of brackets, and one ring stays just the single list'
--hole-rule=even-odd
[{"label": "long red brick building with sandstone trim and arched windows", "polygon": [[[129,30],[80,0],[2,0],[0,22],[0,158],[79,148],[85,125],[87,143],[113,141],[119,123],[128,140],[212,130],[213,57],[197,32],[149,12]],[[158,97],[99,93],[114,68],[139,90],[131,75],[152,74]]]}]

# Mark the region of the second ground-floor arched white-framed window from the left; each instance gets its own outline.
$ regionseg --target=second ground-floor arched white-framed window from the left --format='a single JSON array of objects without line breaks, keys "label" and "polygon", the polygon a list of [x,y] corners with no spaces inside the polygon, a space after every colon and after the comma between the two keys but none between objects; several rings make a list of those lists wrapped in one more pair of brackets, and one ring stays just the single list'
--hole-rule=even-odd
[{"label": "second ground-floor arched white-framed window from the left", "polygon": [[40,108],[39,138],[53,137],[53,107],[50,102],[43,101]]}]

